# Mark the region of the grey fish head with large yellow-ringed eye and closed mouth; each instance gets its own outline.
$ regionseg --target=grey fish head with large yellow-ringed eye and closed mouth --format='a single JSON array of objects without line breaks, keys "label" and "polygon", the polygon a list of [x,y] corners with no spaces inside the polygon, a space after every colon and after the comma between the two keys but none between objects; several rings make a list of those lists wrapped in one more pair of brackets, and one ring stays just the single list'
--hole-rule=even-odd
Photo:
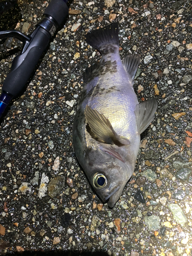
[{"label": "grey fish head with large yellow-ringed eye and closed mouth", "polygon": [[112,147],[91,146],[84,158],[84,168],[96,194],[113,208],[122,194],[124,186],[131,178],[134,168],[125,163],[121,155]]}]

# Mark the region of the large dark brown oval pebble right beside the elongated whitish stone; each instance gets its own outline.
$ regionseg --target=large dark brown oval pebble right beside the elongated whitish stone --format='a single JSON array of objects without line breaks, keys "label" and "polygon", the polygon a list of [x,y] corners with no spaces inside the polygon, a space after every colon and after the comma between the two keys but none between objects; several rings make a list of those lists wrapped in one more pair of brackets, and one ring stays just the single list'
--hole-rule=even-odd
[{"label": "large dark brown oval pebble right beside the elongated whitish stone", "polygon": [[65,186],[65,179],[61,176],[55,177],[49,182],[47,186],[48,196],[50,196],[51,198],[56,197],[61,193],[64,186]]}]

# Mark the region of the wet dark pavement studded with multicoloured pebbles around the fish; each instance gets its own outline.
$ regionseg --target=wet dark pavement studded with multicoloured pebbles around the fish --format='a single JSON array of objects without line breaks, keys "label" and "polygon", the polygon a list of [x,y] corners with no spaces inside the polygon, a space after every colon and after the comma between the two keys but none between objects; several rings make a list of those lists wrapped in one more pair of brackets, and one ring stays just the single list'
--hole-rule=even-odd
[{"label": "wet dark pavement studded with multicoloured pebbles around the fish", "polygon": [[[18,2],[10,27],[29,34],[47,4]],[[0,253],[191,255],[191,1],[81,0],[70,7],[27,90],[1,119]],[[135,173],[113,209],[94,194],[72,144],[82,74],[100,59],[84,35],[110,22],[119,23],[120,55],[141,55],[139,102],[158,101]],[[1,42],[0,86],[21,47],[16,39]]]}]

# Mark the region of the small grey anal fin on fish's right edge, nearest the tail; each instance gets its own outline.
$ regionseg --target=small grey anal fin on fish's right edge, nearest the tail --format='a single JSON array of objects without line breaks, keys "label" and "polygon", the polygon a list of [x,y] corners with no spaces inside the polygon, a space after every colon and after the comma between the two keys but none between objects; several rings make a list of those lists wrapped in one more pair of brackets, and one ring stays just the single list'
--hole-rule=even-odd
[{"label": "small grey anal fin on fish's right edge, nearest the tail", "polygon": [[134,78],[139,66],[139,62],[140,62],[140,55],[137,53],[131,54],[129,56],[127,55],[122,60],[123,66],[129,75],[132,85],[134,84]]}]

